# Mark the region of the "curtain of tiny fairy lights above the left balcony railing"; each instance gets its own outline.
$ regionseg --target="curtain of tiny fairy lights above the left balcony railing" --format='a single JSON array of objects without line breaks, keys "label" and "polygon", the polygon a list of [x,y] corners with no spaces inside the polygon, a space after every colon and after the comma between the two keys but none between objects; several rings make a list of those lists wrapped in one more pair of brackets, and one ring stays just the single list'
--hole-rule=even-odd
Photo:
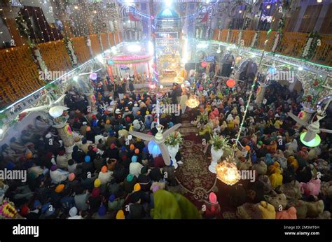
[{"label": "curtain of tiny fairy lights above the left balcony railing", "polygon": [[[118,24],[120,23],[120,21],[117,21],[120,17],[116,16],[118,12],[116,11],[117,6],[115,3],[98,2],[86,4],[82,2],[79,4],[69,4],[64,1],[37,0],[31,1],[30,6],[21,6],[20,9],[9,3],[8,8],[13,15],[18,14],[18,16],[22,16],[22,24],[24,24],[25,27],[22,27],[15,21],[15,31],[25,31],[29,41],[33,40],[35,43],[60,41],[63,34],[70,36],[70,34],[67,33],[68,26],[64,28],[63,25],[60,27],[58,24],[59,18],[67,18],[69,20],[68,22],[71,23],[69,28],[74,36],[106,33],[109,29],[119,29]],[[8,34],[11,36],[11,40],[8,41],[6,30],[0,31],[0,41],[4,47],[11,48],[16,45],[26,45],[27,43],[25,43],[23,39],[24,36],[22,36],[21,32],[20,42],[14,42],[13,25],[8,23],[3,8],[0,8],[0,14],[3,15],[4,24],[8,27]],[[50,15],[53,15],[54,19],[51,19]],[[67,16],[69,16],[69,18]],[[106,20],[109,18],[111,18],[112,24],[108,25],[106,24]],[[28,32],[29,34],[27,34]]]}]

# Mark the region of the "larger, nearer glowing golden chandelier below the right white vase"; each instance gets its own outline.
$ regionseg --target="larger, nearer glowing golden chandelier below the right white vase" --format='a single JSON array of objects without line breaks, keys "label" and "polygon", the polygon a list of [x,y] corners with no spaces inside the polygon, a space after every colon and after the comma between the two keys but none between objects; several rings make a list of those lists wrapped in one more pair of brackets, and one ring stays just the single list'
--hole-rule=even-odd
[{"label": "larger, nearer glowing golden chandelier below the right white vase", "polygon": [[234,185],[240,180],[240,173],[236,164],[228,159],[216,165],[216,178],[227,185]]}]

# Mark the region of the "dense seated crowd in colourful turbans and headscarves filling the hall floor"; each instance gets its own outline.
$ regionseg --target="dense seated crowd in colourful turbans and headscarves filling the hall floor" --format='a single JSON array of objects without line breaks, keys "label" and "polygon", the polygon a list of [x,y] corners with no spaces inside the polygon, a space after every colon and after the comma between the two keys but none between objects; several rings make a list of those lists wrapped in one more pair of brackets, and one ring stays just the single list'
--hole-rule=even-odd
[{"label": "dense seated crowd in colourful turbans and headscarves filling the hall floor", "polygon": [[[65,115],[69,115],[75,141],[70,155],[57,129],[42,116],[35,126],[22,131],[20,138],[13,137],[8,145],[1,146],[1,169],[27,171],[26,182],[1,181],[4,198],[27,219],[186,218],[188,214],[191,218],[219,218],[223,192],[209,194],[205,201],[208,209],[201,211],[180,194],[174,166],[166,166],[162,156],[153,157],[146,142],[128,138],[129,131],[158,132],[153,113],[157,94],[135,92],[131,77],[121,82],[118,77],[114,79],[108,80],[106,88],[101,78],[91,80],[97,101],[93,111],[87,97],[75,87],[66,93],[64,104],[70,109]],[[181,106],[179,117],[161,113],[160,124],[167,129],[186,115],[207,141],[212,134],[236,138],[252,81],[230,88],[222,78],[191,78],[188,85],[174,84],[170,92],[160,90],[158,99]],[[186,107],[188,90],[198,95],[197,108]],[[257,179],[233,186],[237,192],[230,206],[237,208],[237,218],[253,218],[255,209],[257,218],[289,218],[293,208],[299,208],[298,201],[319,202],[317,213],[305,214],[304,218],[331,218],[331,135],[322,133],[317,148],[305,147],[299,141],[304,127],[297,127],[286,115],[289,111],[300,112],[299,95],[271,83],[265,97],[263,104],[255,104],[253,95],[240,138],[242,146],[250,150],[245,157],[237,157],[237,166],[255,170]],[[207,119],[198,118],[202,115]],[[180,152],[177,160],[181,160]],[[312,189],[317,185],[318,192]],[[293,194],[297,192],[295,199]],[[277,203],[269,200],[268,204],[264,198],[278,194],[285,194],[287,200],[282,211],[278,211]],[[275,206],[274,213],[270,204]]]}]

